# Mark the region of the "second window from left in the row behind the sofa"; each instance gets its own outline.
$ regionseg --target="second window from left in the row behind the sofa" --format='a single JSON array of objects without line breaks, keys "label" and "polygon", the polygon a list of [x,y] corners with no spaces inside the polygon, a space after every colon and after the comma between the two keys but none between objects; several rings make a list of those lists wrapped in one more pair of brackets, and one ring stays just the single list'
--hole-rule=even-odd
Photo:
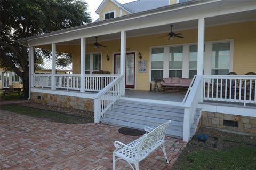
[{"label": "second window from left in the row behind the sofa", "polygon": [[170,47],[169,77],[182,77],[183,46]]}]

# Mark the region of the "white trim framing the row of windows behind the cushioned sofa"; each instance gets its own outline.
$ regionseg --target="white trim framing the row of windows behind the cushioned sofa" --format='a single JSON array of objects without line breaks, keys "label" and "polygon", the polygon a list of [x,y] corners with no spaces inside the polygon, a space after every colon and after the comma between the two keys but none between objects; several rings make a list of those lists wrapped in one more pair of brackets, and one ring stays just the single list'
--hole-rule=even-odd
[{"label": "white trim framing the row of windows behind the cushioned sofa", "polygon": [[[214,43],[230,43],[230,65],[229,65],[229,72],[233,72],[233,60],[234,60],[234,39],[223,39],[223,40],[217,40],[217,41],[205,41],[205,58],[204,58],[204,74],[205,75],[211,75],[212,74],[212,65],[211,65],[211,61],[212,61],[212,44]],[[152,48],[170,48],[170,47],[176,47],[176,46],[183,46],[183,60],[184,60],[184,56],[186,54],[184,54],[184,49],[185,46],[189,46],[189,45],[197,45],[197,42],[195,43],[185,43],[185,44],[174,44],[174,45],[161,45],[161,46],[151,46],[149,48],[149,83],[153,83],[154,81],[151,80],[151,59],[152,59]],[[169,50],[168,50],[169,51]],[[188,51],[188,55],[189,55],[189,51]],[[169,56],[169,55],[168,55]],[[169,61],[169,58],[168,58]],[[188,59],[189,62],[189,59]],[[168,72],[168,77],[169,77],[169,62],[168,64],[166,64],[166,66],[168,65],[168,69],[164,69],[163,70],[163,78],[166,78],[166,73],[164,72]],[[188,78],[189,76],[189,71],[188,70],[193,70],[193,69],[189,69],[189,64],[187,65],[187,67],[183,67],[183,61],[182,61],[182,78]],[[186,66],[186,65],[185,65]],[[170,69],[172,70],[172,69]],[[179,70],[179,69],[173,69],[173,70]],[[197,70],[197,69],[195,69]],[[187,76],[185,77],[185,75],[183,75],[183,72],[187,72]]]}]

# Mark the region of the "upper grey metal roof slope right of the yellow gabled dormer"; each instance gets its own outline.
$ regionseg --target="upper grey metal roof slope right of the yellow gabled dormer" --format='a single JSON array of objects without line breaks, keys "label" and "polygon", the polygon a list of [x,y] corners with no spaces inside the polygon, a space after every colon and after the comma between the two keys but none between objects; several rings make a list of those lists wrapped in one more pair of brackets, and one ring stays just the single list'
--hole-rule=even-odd
[{"label": "upper grey metal roof slope right of the yellow gabled dormer", "polygon": [[147,11],[169,5],[169,0],[137,0],[122,6],[132,13]]}]

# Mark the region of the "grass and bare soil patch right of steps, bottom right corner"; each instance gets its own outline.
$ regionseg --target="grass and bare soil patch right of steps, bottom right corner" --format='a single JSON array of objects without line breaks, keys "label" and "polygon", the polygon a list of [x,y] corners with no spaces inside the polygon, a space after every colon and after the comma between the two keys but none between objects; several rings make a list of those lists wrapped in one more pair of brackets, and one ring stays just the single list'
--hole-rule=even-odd
[{"label": "grass and bare soil patch right of steps, bottom right corner", "polygon": [[173,169],[256,169],[255,136],[213,131],[209,142],[191,140]]}]

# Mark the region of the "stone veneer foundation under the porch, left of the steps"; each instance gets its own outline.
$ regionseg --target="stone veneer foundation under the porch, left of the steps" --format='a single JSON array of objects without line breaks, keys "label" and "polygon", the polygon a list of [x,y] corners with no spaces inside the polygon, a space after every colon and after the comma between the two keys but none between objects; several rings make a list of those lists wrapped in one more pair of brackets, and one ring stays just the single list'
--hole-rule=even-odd
[{"label": "stone veneer foundation under the porch, left of the steps", "polygon": [[[39,96],[39,99],[38,99]],[[51,104],[70,109],[79,109],[94,112],[94,99],[77,98],[73,96],[31,92],[31,101]]]}]

